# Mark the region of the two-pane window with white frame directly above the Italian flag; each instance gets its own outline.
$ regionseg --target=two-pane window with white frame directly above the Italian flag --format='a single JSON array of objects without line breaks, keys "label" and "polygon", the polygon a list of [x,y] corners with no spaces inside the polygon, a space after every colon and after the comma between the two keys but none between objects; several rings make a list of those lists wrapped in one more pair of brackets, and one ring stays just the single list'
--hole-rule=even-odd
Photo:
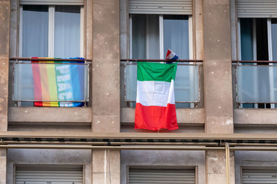
[{"label": "two-pane window with white frame directly above the Italian flag", "polygon": [[181,59],[190,59],[188,19],[188,15],[130,14],[130,57],[164,59],[171,49]]}]

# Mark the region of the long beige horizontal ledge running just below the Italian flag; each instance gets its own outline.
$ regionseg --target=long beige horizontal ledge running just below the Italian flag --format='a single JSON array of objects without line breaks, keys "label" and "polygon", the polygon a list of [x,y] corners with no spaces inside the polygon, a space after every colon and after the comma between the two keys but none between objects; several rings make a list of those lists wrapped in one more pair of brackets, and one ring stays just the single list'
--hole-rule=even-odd
[{"label": "long beige horizontal ledge running just below the Italian flag", "polygon": [[277,134],[206,134],[206,133],[98,133],[98,132],[0,132],[0,138],[31,139],[155,139],[155,140],[276,140]]}]

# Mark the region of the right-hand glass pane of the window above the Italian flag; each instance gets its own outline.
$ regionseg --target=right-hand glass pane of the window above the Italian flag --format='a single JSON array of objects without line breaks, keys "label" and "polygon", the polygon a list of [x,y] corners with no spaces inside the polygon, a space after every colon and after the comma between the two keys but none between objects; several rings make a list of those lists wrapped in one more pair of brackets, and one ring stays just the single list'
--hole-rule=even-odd
[{"label": "right-hand glass pane of the window above the Italian flag", "polygon": [[189,59],[188,16],[163,16],[163,53],[168,49],[178,54],[180,59]]}]

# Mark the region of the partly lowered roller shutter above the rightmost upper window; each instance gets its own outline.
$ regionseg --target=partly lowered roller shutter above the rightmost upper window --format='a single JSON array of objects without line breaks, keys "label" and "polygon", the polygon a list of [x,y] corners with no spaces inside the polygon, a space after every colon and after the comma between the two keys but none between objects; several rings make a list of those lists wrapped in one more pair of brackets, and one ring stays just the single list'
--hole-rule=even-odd
[{"label": "partly lowered roller shutter above the rightmost upper window", "polygon": [[276,0],[237,0],[238,17],[277,17]]}]

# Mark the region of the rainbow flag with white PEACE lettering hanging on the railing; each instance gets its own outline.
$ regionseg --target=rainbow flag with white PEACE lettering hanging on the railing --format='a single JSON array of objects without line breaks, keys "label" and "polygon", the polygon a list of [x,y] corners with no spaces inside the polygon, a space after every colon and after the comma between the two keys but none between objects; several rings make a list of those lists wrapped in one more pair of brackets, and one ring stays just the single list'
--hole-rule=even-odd
[{"label": "rainbow flag with white PEACE lettering hanging on the railing", "polygon": [[[32,59],[42,58],[33,57]],[[84,65],[66,64],[69,63],[68,61],[31,61],[31,63],[35,106],[80,107],[84,105],[84,102],[69,102],[84,101]],[[70,63],[84,62],[74,61]]]}]

